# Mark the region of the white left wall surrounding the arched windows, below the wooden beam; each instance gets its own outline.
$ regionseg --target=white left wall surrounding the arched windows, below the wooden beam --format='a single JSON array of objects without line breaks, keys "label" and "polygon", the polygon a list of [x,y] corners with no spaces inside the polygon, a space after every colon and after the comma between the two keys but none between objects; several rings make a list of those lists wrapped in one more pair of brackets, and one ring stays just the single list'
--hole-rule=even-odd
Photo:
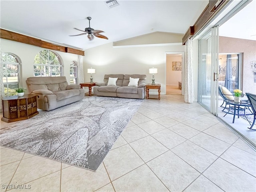
[{"label": "white left wall surrounding the arched windows, below the wooden beam", "polygon": [[[44,48],[1,39],[1,52],[9,52],[15,54],[20,58],[22,62],[22,65],[20,66],[22,78],[20,79],[19,86],[26,87],[26,79],[28,77],[34,76],[34,58],[36,54],[38,54],[41,50],[44,50]],[[57,53],[61,57],[63,62],[63,76],[67,77],[67,81],[69,83],[70,62],[73,60],[77,61],[77,55],[60,51],[51,51]]]}]

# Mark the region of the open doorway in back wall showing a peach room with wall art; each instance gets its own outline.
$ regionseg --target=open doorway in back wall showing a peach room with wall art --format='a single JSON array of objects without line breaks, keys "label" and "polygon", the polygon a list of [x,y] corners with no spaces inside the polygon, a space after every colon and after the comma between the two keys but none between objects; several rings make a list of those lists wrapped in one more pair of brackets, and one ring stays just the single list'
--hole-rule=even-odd
[{"label": "open doorway in back wall showing a peach room with wall art", "polygon": [[184,95],[184,52],[166,52],[166,95]]}]

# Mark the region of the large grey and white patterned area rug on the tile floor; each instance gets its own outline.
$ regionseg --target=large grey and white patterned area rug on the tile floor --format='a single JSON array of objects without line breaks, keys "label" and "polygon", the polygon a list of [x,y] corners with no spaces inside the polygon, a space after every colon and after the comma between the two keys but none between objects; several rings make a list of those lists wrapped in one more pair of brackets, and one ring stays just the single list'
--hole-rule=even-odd
[{"label": "large grey and white patterned area rug on the tile floor", "polygon": [[142,101],[88,97],[8,127],[0,144],[96,171]]}]

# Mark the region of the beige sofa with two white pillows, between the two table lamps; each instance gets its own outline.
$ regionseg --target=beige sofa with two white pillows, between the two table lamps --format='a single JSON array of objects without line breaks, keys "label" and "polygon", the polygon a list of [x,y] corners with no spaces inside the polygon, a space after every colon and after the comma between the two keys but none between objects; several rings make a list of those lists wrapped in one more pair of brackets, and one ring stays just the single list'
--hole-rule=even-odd
[{"label": "beige sofa with two white pillows, between the two table lamps", "polygon": [[[131,78],[139,78],[138,86],[128,86]],[[118,78],[115,85],[107,85],[109,78]],[[106,74],[104,76],[104,82],[96,83],[93,88],[94,95],[108,96],[108,97],[122,97],[122,98],[134,98],[144,99],[146,75],[140,74]]]}]

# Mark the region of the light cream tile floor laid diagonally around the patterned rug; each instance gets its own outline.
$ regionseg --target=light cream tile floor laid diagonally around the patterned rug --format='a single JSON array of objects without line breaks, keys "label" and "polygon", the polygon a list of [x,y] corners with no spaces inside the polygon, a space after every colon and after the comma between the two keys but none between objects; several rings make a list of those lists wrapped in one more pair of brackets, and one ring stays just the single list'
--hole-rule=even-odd
[{"label": "light cream tile floor laid diagonally around the patterned rug", "polygon": [[256,152],[180,95],[144,100],[96,172],[0,150],[1,192],[256,191]]}]

